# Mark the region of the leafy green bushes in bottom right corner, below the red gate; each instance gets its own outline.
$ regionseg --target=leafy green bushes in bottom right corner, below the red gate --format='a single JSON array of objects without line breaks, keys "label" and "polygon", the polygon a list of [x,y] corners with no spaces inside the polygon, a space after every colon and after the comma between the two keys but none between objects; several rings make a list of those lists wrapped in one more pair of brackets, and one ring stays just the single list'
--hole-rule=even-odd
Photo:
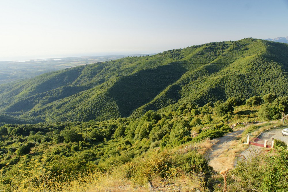
[{"label": "leafy green bushes in bottom right corner, below the red gate", "polygon": [[229,189],[239,191],[241,186],[245,191],[287,191],[288,152],[281,147],[275,150],[273,156],[256,153],[247,160],[239,161],[232,170],[234,179],[230,181]]}]

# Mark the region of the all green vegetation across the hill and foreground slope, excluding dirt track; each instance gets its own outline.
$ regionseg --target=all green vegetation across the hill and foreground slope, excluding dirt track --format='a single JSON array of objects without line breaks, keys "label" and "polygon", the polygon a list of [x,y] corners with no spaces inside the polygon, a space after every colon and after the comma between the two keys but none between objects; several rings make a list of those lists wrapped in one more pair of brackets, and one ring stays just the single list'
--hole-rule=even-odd
[{"label": "all green vegetation across the hill and foreground slope, excluding dirt track", "polygon": [[[287,51],[247,38],[0,84],[0,191],[287,191],[285,143],[236,150],[284,127]],[[215,171],[212,140],[239,129]]]}]

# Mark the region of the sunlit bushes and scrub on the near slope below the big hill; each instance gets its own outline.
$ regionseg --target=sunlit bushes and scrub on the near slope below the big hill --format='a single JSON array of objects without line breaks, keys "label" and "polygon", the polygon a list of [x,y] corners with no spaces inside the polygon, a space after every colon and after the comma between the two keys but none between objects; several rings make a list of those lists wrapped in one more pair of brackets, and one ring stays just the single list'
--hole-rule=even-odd
[{"label": "sunlit bushes and scrub on the near slope below the big hill", "polygon": [[[102,185],[104,180],[110,183],[113,178],[140,188],[150,182],[163,190],[222,191],[219,183],[224,184],[223,178],[205,156],[210,140],[233,131],[229,126],[232,123],[274,120],[281,117],[281,112],[288,112],[288,97],[270,93],[246,101],[232,97],[202,107],[185,103],[175,111],[158,114],[150,110],[137,118],[6,124],[0,127],[0,189],[69,191],[80,186],[79,190],[84,191],[87,186]],[[239,144],[246,140],[246,134],[274,125],[250,126],[238,138]],[[186,152],[185,146],[190,146]],[[229,189],[265,187],[266,191],[285,191],[285,148],[286,144],[279,141],[271,151],[273,156],[258,155],[239,161],[229,171]],[[262,163],[266,166],[262,167]],[[261,167],[257,173],[255,166]],[[246,172],[253,175],[249,182]],[[277,175],[271,176],[271,172]],[[270,183],[271,177],[274,183]],[[103,186],[97,190],[104,191]]]}]

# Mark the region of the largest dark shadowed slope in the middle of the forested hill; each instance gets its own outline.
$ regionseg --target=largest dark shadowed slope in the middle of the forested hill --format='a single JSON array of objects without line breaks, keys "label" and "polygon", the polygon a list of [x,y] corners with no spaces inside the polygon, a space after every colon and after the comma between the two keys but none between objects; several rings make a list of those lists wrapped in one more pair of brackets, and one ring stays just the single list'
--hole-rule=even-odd
[{"label": "largest dark shadowed slope in the middle of the forested hill", "polygon": [[129,116],[135,109],[154,99],[168,85],[176,82],[185,72],[186,69],[181,65],[173,64],[143,69],[120,78],[109,93],[116,101],[121,116]]}]

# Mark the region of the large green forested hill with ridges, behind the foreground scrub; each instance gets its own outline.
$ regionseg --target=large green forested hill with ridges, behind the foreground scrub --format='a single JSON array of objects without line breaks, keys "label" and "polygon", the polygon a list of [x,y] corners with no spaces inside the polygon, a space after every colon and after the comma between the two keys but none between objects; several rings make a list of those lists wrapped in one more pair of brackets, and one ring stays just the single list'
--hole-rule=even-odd
[{"label": "large green forested hill with ridges, behind the foreground scrub", "polygon": [[1,84],[0,113],[89,121],[176,109],[185,102],[284,96],[287,53],[287,44],[247,38],[73,67]]}]

